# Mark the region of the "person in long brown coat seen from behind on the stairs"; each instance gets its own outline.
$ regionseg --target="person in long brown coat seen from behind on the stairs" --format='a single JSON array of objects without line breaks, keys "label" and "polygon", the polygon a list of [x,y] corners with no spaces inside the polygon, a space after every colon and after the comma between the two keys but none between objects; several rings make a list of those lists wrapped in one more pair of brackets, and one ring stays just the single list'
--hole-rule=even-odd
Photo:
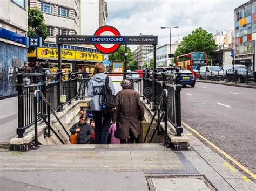
[{"label": "person in long brown coat seen from behind on the stairs", "polygon": [[113,114],[112,121],[116,123],[117,129],[114,136],[121,139],[121,143],[127,143],[130,137],[130,143],[139,143],[140,123],[144,118],[144,109],[140,96],[132,90],[132,83],[129,80],[121,82],[123,88],[116,94],[116,111]]}]

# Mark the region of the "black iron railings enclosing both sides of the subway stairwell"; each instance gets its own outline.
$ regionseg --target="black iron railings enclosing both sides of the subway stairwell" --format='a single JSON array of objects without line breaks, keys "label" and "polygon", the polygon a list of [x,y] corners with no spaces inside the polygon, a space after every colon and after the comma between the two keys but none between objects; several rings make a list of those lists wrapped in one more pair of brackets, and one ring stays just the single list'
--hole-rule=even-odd
[{"label": "black iron railings enclosing both sides of the subway stairwell", "polygon": [[[113,74],[113,73],[106,73]],[[119,74],[123,75],[123,73]],[[145,98],[148,103],[153,102],[154,105],[159,104],[159,111],[165,112],[165,118],[168,119],[176,128],[177,136],[181,136],[183,132],[181,128],[181,110],[180,110],[180,85],[179,77],[176,76],[176,84],[167,84],[167,74],[162,74],[162,81],[158,81],[156,73],[144,73],[144,77],[129,77],[126,74],[126,79],[132,81],[133,89],[138,91],[140,96]],[[63,76],[68,76],[68,79],[63,80]],[[24,86],[24,77],[42,77],[42,82],[38,84],[31,84]],[[48,106],[42,101],[39,94],[36,96],[36,102],[33,102],[33,92],[40,90],[42,95],[48,101],[53,111],[61,111],[63,105],[71,104],[73,99],[84,99],[89,97],[87,95],[88,82],[90,80],[89,73],[69,73],[63,74],[57,72],[54,74],[24,74],[18,73],[18,137],[23,137],[25,129],[35,123],[35,116],[37,120],[42,119],[40,115],[35,115],[35,103],[38,114],[48,116]],[[164,97],[165,102],[161,100],[161,93],[166,89],[168,96]],[[61,102],[60,96],[64,95],[65,102]],[[163,98],[162,98],[163,99]],[[166,106],[166,107],[165,107]],[[158,113],[158,119],[163,119]],[[164,116],[163,116],[164,117]],[[161,120],[160,120],[161,121]],[[160,122],[159,122],[160,123]]]}]

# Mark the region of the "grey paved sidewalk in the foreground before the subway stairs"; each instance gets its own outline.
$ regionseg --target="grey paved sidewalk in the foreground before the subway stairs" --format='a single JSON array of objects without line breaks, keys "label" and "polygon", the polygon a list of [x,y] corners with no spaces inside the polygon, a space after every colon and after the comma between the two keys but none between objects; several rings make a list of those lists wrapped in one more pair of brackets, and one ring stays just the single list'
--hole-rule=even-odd
[{"label": "grey paved sidewalk in the foreground before the subway stairs", "polygon": [[256,190],[254,182],[190,137],[190,150],[182,152],[161,144],[44,145],[26,153],[0,150],[1,188]]}]

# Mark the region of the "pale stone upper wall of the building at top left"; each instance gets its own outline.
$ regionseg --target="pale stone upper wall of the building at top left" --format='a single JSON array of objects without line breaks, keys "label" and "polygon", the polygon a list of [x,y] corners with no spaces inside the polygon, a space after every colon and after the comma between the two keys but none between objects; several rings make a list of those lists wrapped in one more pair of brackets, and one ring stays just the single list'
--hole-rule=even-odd
[{"label": "pale stone upper wall of the building at top left", "polygon": [[22,9],[9,0],[2,0],[0,3],[0,27],[12,32],[18,32],[25,36],[28,31],[28,0],[25,1],[25,9]]}]

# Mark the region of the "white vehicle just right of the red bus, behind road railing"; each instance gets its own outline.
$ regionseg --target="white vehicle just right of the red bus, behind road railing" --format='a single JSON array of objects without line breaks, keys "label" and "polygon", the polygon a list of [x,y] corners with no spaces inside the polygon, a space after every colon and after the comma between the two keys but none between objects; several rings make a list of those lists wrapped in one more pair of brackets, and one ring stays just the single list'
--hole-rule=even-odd
[{"label": "white vehicle just right of the red bus, behind road railing", "polygon": [[219,66],[201,66],[200,67],[200,79],[207,78],[207,80],[225,79],[225,73]]}]

